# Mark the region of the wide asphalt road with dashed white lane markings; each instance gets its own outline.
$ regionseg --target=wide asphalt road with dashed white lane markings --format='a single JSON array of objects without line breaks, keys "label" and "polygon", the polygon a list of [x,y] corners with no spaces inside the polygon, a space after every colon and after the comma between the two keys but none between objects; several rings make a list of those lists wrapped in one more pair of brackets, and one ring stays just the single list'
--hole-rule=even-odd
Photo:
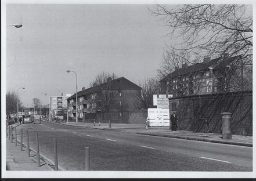
[{"label": "wide asphalt road with dashed white lane markings", "polygon": [[[17,127],[30,134],[35,149],[54,160],[53,139],[57,139],[59,165],[67,171],[85,170],[85,147],[90,148],[91,171],[253,171],[253,148],[103,131],[53,122]],[[24,143],[26,144],[26,134]]]}]

